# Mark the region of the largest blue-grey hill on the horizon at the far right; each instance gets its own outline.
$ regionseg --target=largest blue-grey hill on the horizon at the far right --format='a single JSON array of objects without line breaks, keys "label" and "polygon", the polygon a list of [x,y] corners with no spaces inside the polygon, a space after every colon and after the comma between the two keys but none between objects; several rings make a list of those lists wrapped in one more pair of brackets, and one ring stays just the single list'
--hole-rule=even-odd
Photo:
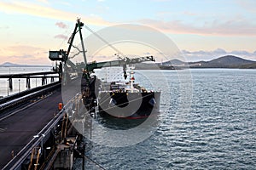
[{"label": "largest blue-grey hill on the horizon at the far right", "polygon": [[242,65],[250,65],[256,61],[241,59],[234,55],[226,55],[210,61],[189,62],[190,68],[241,68]]}]

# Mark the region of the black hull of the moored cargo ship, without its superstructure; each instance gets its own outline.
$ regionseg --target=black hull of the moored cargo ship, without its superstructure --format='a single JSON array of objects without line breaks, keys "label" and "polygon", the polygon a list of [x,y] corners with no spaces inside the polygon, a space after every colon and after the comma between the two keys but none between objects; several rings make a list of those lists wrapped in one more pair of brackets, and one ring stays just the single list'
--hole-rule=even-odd
[{"label": "black hull of the moored cargo ship, without its superstructure", "polygon": [[160,92],[128,93],[101,92],[99,114],[125,119],[140,119],[160,111]]}]

